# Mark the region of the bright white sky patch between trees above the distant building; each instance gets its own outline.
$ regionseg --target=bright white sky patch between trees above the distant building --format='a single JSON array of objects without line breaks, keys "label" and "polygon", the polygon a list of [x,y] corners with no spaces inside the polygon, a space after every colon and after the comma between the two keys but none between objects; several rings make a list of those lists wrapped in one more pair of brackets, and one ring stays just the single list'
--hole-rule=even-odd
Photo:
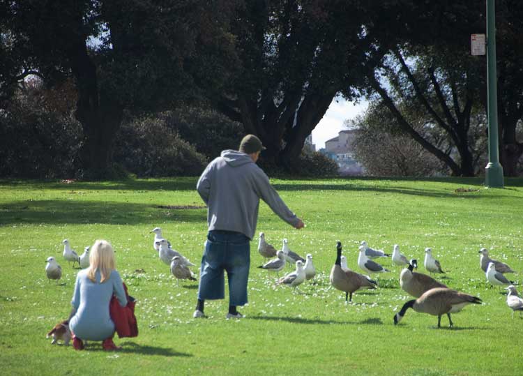
[{"label": "bright white sky patch between trees above the distant building", "polygon": [[345,120],[354,119],[359,114],[363,114],[366,109],[366,102],[354,105],[354,103],[348,102],[340,96],[335,97],[324,117],[312,130],[312,143],[316,145],[316,150],[324,148],[327,140],[338,136],[340,130],[344,129]]}]

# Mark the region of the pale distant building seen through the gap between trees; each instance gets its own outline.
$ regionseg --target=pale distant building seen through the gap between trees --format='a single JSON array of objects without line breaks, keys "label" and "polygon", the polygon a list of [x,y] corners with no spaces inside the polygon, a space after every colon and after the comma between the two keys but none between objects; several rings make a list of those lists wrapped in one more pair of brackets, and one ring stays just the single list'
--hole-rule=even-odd
[{"label": "pale distant building seen through the gap between trees", "polygon": [[321,151],[335,160],[340,167],[342,175],[361,175],[363,167],[354,159],[354,138],[358,130],[342,130],[337,137],[331,138],[325,142],[325,149]]}]

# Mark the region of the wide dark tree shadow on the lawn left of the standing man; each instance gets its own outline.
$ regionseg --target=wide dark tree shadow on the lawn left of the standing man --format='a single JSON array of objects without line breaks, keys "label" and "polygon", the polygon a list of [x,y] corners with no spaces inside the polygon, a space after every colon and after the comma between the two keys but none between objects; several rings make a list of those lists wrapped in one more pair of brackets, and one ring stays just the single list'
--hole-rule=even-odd
[{"label": "wide dark tree shadow on the lawn left of the standing man", "polygon": [[[42,200],[15,201],[0,205],[0,223],[110,223],[153,224],[169,220],[206,223],[207,211],[202,209],[161,209],[156,204],[126,202]],[[150,230],[148,228],[148,230]]]}]

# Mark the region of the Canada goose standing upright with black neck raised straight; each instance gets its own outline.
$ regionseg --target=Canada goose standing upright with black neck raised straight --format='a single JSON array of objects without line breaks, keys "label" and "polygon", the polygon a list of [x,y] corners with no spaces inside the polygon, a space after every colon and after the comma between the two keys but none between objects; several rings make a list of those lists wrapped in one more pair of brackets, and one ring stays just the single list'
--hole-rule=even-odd
[{"label": "Canada goose standing upright with black neck raised straight", "polygon": [[342,243],[340,241],[336,243],[336,251],[336,261],[331,269],[331,285],[335,289],[345,292],[345,302],[347,302],[347,299],[352,301],[352,293],[358,291],[358,289],[375,289],[377,287],[378,284],[375,280],[371,280],[348,268],[343,268],[341,264]]}]

